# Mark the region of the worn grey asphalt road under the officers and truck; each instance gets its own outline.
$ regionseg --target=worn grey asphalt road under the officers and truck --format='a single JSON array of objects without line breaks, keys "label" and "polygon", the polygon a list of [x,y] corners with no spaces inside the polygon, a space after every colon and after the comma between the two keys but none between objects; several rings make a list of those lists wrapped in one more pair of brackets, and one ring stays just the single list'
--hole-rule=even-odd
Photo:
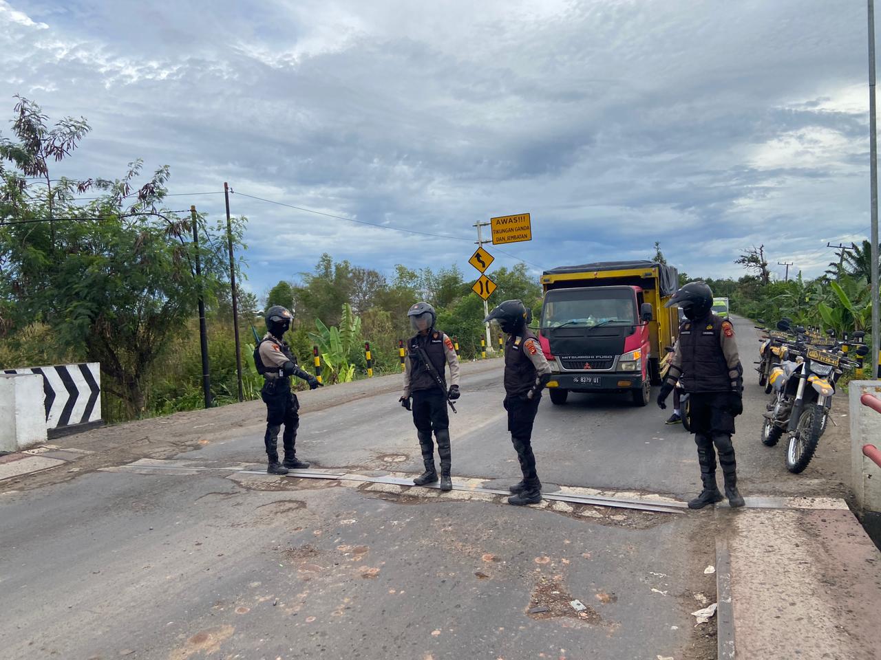
[{"label": "worn grey asphalt road under the officers and truck", "polygon": [[[755,334],[737,330],[748,369]],[[759,444],[764,396],[748,378],[737,437],[746,494],[834,488],[837,457],[821,451],[826,473],[799,481],[782,450]],[[454,474],[518,480],[500,365],[466,375],[462,389]],[[381,388],[306,408],[300,457],[417,473],[396,399]],[[545,398],[534,436],[545,490],[691,495],[694,444],[663,424],[669,413],[611,396]],[[215,429],[177,467],[111,467],[0,496],[0,657],[714,656],[714,623],[694,627],[690,614],[714,599],[709,511],[515,509],[498,497],[278,479],[247,470],[263,466],[261,435]]]}]

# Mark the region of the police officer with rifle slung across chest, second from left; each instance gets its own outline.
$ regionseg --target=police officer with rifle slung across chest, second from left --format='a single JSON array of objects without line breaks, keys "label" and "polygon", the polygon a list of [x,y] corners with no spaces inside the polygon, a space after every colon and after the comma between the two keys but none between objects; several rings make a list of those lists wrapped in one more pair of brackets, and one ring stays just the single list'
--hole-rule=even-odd
[{"label": "police officer with rifle slung across chest, second from left", "polygon": [[[407,342],[401,405],[412,410],[413,424],[426,471],[413,483],[425,486],[438,480],[434,467],[432,431],[441,457],[441,490],[452,490],[450,479],[449,415],[447,401],[459,398],[459,358],[450,338],[434,329],[437,315],[428,303],[414,304],[407,312],[416,334]],[[449,365],[449,389],[444,366]],[[413,400],[412,407],[410,400]]]}]

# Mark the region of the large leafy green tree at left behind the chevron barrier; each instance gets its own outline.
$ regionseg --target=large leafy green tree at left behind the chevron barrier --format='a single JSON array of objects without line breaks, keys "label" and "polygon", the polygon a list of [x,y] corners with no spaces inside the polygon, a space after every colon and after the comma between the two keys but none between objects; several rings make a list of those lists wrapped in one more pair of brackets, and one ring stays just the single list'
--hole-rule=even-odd
[{"label": "large leafy green tree at left behind the chevron barrier", "polygon": [[[226,226],[211,227],[197,217],[202,242],[196,248],[189,216],[163,210],[167,166],[137,188],[140,161],[121,180],[54,180],[46,156],[67,158],[87,124],[63,120],[49,128],[40,107],[27,99],[19,99],[16,112],[14,141],[0,140],[0,217],[9,223],[0,231],[4,318],[11,331],[41,323],[71,353],[100,362],[104,389],[130,415],[141,414],[152,366],[186,330],[196,298],[201,293],[215,301],[226,286]],[[36,171],[56,186],[27,185]],[[78,206],[73,193],[89,188],[99,198]],[[48,217],[56,220],[46,222]],[[233,233],[241,236],[240,224]]]}]

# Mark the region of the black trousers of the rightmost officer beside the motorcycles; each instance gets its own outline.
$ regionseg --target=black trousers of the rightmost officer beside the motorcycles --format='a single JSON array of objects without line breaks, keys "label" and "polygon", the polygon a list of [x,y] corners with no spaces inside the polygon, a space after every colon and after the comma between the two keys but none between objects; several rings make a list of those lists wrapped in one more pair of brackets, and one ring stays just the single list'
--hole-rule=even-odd
[{"label": "black trousers of the rightmost officer beside the motorcycles", "polygon": [[700,476],[715,483],[716,452],[726,480],[737,473],[734,458],[734,415],[731,414],[728,392],[704,392],[691,395],[692,433],[698,445]]}]

